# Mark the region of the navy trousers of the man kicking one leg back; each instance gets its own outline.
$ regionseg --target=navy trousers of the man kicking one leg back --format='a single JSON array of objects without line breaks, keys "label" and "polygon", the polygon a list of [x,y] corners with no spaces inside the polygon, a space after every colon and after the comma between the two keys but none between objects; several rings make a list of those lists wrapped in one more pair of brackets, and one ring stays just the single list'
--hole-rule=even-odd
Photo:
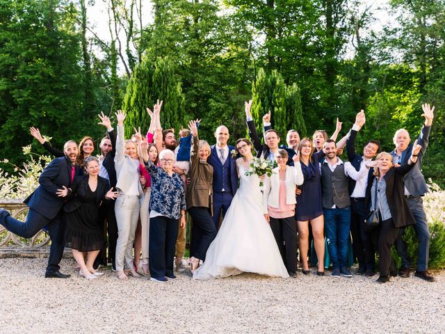
[{"label": "navy trousers of the man kicking one leg back", "polygon": [[2,211],[0,214],[0,224],[3,225],[6,230],[24,238],[33,237],[42,230],[42,228],[46,230],[51,238],[47,273],[54,273],[60,269],[58,264],[62,260],[63,249],[65,248],[63,244],[65,224],[62,222],[62,210],[60,210],[53,219],[49,219],[35,212],[33,209],[29,209],[28,216],[26,216],[24,223],[17,221],[17,219],[10,216],[8,212]]}]

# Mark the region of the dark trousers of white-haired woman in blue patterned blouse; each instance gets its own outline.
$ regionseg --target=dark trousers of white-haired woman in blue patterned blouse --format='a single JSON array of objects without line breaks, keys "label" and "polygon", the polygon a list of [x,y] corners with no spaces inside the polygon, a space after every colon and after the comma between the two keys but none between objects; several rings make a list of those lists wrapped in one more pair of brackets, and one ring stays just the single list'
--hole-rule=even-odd
[{"label": "dark trousers of white-haired woman in blue patterned blouse", "polygon": [[148,257],[150,276],[154,278],[173,275],[178,223],[166,216],[150,218]]}]

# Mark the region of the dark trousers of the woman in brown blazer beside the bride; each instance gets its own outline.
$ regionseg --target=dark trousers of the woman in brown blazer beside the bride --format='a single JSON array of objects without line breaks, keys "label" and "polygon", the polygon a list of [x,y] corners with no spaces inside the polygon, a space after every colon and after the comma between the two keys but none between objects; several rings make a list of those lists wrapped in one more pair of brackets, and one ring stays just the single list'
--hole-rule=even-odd
[{"label": "dark trousers of the woman in brown blazer beside the bride", "polygon": [[187,211],[192,217],[193,224],[190,256],[204,261],[207,249],[216,237],[216,226],[208,207],[189,207]]}]

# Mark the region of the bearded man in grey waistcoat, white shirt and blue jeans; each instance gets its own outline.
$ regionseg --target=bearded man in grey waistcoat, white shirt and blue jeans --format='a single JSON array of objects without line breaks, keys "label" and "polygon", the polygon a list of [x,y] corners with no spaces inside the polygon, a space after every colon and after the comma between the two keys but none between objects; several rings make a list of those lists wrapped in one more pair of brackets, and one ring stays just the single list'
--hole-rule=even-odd
[{"label": "bearded man in grey waistcoat, white shirt and blue jeans", "polygon": [[343,164],[337,157],[337,145],[333,139],[325,141],[323,152],[326,157],[321,163],[321,190],[332,276],[339,277],[341,274],[351,277],[352,274],[346,268],[350,232],[348,177],[357,181],[368,174],[368,168],[363,165],[357,172],[349,161]]}]

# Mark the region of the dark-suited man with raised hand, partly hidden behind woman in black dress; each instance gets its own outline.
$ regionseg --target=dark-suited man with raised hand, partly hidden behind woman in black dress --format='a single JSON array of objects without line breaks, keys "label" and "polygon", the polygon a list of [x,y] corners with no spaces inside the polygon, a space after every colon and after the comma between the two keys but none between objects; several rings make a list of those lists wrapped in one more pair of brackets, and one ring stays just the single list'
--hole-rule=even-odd
[{"label": "dark-suited man with raised hand, partly hidden behind woman in black dress", "polygon": [[[101,151],[100,156],[100,170],[99,176],[102,176],[108,180],[110,187],[115,187],[117,183],[116,169],[114,164],[114,157],[116,154],[116,132],[111,127],[110,119],[102,113],[99,115],[101,122],[99,125],[106,127],[108,136],[102,138],[99,148]],[[108,188],[110,189],[110,188]],[[99,222],[102,222],[104,226],[104,234],[108,231],[108,258],[106,256],[106,246],[100,251],[99,255],[93,265],[94,269],[99,267],[99,264],[106,266],[107,262],[111,262],[111,268],[116,269],[115,255],[116,255],[116,242],[118,241],[118,223],[116,222],[116,216],[114,212],[114,200],[104,202],[99,207]],[[109,260],[109,261],[108,261]]]}]

